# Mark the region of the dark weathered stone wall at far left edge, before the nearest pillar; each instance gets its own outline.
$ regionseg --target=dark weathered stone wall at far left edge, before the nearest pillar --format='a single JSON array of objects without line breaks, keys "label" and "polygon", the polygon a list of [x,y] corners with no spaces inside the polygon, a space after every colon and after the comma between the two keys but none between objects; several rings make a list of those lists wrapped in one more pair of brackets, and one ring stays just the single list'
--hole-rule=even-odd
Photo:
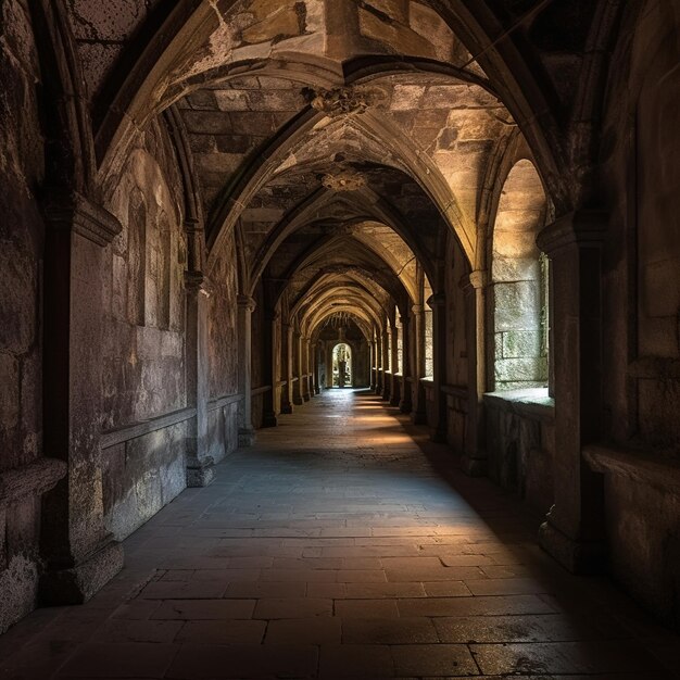
[{"label": "dark weathered stone wall at far left edge, before the nearest pillar", "polygon": [[10,476],[42,454],[39,81],[27,3],[8,0],[0,7],[0,633],[34,608],[38,582],[40,498],[33,489],[12,498]]}]

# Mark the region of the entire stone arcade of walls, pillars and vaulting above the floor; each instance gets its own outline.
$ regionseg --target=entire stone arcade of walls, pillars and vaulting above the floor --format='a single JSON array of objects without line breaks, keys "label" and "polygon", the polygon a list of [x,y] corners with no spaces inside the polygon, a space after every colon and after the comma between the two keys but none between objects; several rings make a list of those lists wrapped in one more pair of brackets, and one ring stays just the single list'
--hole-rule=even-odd
[{"label": "entire stone arcade of walls, pillars and vaulting above the floor", "polygon": [[678,0],[1,12],[0,631],[350,386],[678,626]]}]

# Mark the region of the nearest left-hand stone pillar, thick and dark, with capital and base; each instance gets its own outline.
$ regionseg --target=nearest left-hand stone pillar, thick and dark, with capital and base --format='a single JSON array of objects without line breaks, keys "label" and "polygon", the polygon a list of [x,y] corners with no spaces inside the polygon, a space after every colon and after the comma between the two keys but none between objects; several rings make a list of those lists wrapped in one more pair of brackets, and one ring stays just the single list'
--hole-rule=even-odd
[{"label": "nearest left-hand stone pillar, thick and dark, with capital and base", "polygon": [[67,473],[42,496],[43,605],[89,600],[123,567],[104,528],[101,464],[105,247],[121,224],[77,193],[45,203],[43,446]]}]

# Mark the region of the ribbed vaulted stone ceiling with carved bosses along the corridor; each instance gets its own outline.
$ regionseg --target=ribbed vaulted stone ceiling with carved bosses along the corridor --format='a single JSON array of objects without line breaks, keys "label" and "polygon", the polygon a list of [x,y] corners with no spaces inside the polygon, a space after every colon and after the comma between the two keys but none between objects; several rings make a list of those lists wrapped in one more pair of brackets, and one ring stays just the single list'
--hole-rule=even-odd
[{"label": "ribbed vaulted stone ceiling with carved bosses along the corridor", "polygon": [[582,172],[579,150],[564,140],[587,41],[613,21],[601,3],[71,4],[100,173],[135,130],[174,111],[209,273],[235,232],[243,292],[275,281],[301,323],[405,308],[418,267],[437,287],[448,242],[479,266],[490,184],[517,137],[551,199],[578,198],[569,171]]}]

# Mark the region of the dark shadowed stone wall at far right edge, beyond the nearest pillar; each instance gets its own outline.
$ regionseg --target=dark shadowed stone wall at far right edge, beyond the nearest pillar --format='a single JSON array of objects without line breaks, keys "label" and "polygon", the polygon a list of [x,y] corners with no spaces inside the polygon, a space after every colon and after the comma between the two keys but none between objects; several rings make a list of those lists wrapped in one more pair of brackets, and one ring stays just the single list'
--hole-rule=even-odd
[{"label": "dark shadowed stone wall at far right edge, beyond the nearest pillar", "polygon": [[[680,12],[650,0],[622,26],[607,88],[602,181],[604,414],[613,451],[665,483],[604,465],[616,578],[680,622]],[[673,486],[675,483],[675,486]]]}]

